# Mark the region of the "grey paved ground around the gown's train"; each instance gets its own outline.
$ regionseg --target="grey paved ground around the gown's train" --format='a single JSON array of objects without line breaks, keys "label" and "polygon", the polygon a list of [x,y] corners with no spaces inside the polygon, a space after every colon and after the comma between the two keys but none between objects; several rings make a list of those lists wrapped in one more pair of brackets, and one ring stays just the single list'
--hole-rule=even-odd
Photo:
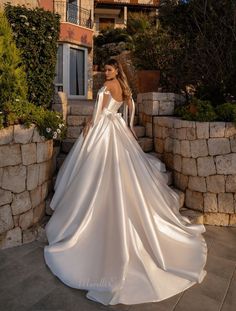
[{"label": "grey paved ground around the gown's train", "polygon": [[42,242],[0,251],[1,311],[235,311],[236,228],[205,225],[207,276],[184,292],[156,303],[104,306],[67,287],[45,266]]}]

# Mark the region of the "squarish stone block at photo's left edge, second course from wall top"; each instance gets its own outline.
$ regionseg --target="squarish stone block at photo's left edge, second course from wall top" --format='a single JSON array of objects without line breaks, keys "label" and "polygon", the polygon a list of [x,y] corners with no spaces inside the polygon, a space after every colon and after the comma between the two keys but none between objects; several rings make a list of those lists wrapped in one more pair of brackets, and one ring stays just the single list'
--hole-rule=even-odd
[{"label": "squarish stone block at photo's left edge, second course from wall top", "polygon": [[19,144],[0,146],[0,167],[17,165],[22,161]]}]

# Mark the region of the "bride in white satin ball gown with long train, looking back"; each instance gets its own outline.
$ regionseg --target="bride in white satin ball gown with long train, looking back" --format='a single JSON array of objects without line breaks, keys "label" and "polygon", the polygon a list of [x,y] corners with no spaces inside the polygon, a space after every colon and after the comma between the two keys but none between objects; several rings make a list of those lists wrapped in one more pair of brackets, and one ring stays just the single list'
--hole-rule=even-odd
[{"label": "bride in white satin ball gown with long train, looking back", "polygon": [[164,163],[138,144],[121,65],[110,59],[105,76],[58,172],[44,258],[63,283],[103,305],[161,301],[204,279],[206,230],[181,216]]}]

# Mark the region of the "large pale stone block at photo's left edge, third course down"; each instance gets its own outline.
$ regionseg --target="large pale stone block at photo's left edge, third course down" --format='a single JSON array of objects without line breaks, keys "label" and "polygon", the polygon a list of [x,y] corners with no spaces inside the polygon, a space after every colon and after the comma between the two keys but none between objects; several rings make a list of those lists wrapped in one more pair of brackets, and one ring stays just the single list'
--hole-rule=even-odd
[{"label": "large pale stone block at photo's left edge, third course down", "polygon": [[23,165],[8,166],[3,170],[2,188],[20,193],[25,190],[26,167]]}]

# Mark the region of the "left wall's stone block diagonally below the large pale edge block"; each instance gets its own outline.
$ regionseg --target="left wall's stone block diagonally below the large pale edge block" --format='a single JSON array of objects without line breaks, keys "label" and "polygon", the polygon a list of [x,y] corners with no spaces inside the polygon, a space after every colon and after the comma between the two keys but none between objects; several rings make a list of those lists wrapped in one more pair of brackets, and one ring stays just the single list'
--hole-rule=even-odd
[{"label": "left wall's stone block diagonally below the large pale edge block", "polygon": [[28,191],[24,191],[13,196],[11,204],[12,214],[18,215],[31,209],[30,195]]}]

